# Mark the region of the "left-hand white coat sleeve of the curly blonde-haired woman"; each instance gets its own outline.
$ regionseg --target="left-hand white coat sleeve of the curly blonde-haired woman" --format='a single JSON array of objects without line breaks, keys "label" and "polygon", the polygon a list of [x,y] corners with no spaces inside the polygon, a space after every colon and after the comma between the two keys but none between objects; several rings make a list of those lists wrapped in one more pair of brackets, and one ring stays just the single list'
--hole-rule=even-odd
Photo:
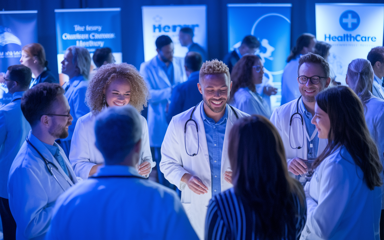
[{"label": "left-hand white coat sleeve of the curly blonde-haired woman", "polygon": [[[88,131],[93,131],[93,129],[88,129]],[[76,176],[83,179],[88,178],[91,168],[96,165],[90,162],[90,159],[89,139],[86,135],[84,123],[82,119],[79,119],[74,127],[69,155],[69,160]]]}]

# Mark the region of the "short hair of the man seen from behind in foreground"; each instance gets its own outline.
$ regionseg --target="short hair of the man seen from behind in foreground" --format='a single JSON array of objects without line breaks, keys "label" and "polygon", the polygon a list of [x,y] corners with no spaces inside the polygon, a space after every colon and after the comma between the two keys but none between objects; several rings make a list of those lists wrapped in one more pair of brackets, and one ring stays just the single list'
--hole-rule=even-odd
[{"label": "short hair of the man seen from behind in foreground", "polygon": [[107,108],[96,117],[96,147],[103,154],[106,165],[124,161],[141,134],[140,115],[131,105]]}]

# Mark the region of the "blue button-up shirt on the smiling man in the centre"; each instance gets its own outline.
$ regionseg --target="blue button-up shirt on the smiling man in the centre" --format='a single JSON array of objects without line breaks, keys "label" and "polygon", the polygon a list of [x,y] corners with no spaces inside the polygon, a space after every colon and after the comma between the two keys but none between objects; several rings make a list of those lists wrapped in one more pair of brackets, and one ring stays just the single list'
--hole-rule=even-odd
[{"label": "blue button-up shirt on the smiling man in the centre", "polygon": [[207,137],[213,197],[221,192],[221,156],[228,119],[228,105],[225,107],[224,116],[218,122],[207,117],[203,106],[204,104],[201,104],[200,114],[204,122],[205,136]]}]

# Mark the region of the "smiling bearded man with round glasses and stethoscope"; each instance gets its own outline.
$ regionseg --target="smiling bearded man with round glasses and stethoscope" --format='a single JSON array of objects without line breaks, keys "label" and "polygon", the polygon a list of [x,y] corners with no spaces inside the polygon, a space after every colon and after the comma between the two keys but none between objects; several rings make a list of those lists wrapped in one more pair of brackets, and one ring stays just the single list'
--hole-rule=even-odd
[{"label": "smiling bearded man with round glasses and stethoscope", "polygon": [[318,138],[311,119],[314,116],[315,97],[328,87],[331,78],[327,61],[313,53],[300,57],[297,74],[301,96],[276,108],[271,122],[283,140],[288,170],[304,185],[310,179],[305,174],[311,161],[324,151],[327,144],[326,139]]}]

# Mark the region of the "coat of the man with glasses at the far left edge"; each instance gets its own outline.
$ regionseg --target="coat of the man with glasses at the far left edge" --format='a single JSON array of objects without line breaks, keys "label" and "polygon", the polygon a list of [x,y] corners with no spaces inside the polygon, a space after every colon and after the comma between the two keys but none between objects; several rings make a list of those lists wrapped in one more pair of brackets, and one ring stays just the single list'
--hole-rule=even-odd
[{"label": "coat of the man with glasses at the far left edge", "polygon": [[5,199],[9,169],[31,130],[20,108],[23,93],[13,93],[12,101],[0,109],[0,197]]}]

